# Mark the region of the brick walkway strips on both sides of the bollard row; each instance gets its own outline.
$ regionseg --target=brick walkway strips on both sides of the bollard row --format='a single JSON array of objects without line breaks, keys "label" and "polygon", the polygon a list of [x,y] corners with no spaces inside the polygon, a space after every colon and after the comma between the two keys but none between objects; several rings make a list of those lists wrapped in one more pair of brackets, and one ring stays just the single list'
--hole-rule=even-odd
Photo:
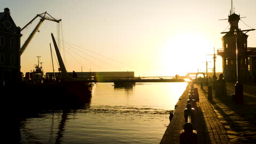
[{"label": "brick walkway strips on both sides of the bollard row", "polygon": [[[195,85],[195,87],[197,86]],[[196,116],[194,129],[197,131],[199,143],[228,143],[228,136],[213,109],[214,107],[207,101],[203,91],[201,91],[200,88],[198,89],[200,102],[197,102],[197,107],[195,107]],[[188,88],[180,99],[178,107],[174,112],[174,117],[162,137],[161,144],[179,143],[179,131],[183,129],[184,109],[187,105]]]}]

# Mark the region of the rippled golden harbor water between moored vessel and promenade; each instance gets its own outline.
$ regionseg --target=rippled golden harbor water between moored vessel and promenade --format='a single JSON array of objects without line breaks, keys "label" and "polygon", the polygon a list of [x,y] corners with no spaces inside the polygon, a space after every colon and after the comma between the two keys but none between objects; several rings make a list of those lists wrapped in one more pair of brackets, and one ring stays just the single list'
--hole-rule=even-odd
[{"label": "rippled golden harbor water between moored vessel and promenade", "polygon": [[42,110],[20,119],[20,143],[160,143],[187,82],[97,83],[79,109]]}]

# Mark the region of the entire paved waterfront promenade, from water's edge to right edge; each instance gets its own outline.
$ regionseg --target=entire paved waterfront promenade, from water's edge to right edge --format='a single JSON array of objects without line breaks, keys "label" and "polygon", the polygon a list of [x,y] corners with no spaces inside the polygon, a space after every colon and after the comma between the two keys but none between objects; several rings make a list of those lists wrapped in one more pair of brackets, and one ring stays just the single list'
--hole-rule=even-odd
[{"label": "entire paved waterfront promenade, from water's edge to right edge", "polygon": [[[207,86],[198,85],[200,101],[197,102],[194,129],[197,131],[199,143],[255,143],[256,128],[256,85],[243,85],[243,105],[235,104],[232,94],[235,83],[226,83],[228,95],[208,100]],[[189,87],[177,103],[172,121],[168,125],[162,143],[179,143],[179,131],[183,129],[184,109],[187,105]]]}]

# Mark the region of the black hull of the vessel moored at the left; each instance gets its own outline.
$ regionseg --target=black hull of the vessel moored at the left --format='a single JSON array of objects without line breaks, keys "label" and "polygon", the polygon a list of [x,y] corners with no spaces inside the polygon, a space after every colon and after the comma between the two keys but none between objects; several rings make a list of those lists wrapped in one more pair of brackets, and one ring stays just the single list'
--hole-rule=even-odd
[{"label": "black hull of the vessel moored at the left", "polygon": [[22,83],[16,87],[5,88],[8,103],[22,110],[80,107],[89,104],[92,86],[88,83]]}]

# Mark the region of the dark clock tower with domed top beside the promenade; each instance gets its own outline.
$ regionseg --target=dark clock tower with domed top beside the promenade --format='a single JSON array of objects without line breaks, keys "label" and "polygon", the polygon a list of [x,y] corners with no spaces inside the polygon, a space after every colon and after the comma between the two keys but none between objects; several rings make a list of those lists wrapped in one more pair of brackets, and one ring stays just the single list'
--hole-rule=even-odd
[{"label": "dark clock tower with domed top beside the promenade", "polygon": [[248,31],[253,31],[255,29],[241,30],[238,27],[238,22],[240,21],[240,18],[240,15],[230,13],[228,19],[230,23],[230,30],[229,32],[222,32],[225,33],[225,35],[222,37],[223,48],[218,49],[217,51],[218,55],[222,56],[223,74],[224,79],[227,82],[237,81],[236,42],[238,57],[240,57],[241,81],[251,81],[253,79],[253,76],[255,75],[254,73],[252,73],[252,65],[256,65],[256,59],[255,62],[252,63],[251,57],[253,52],[247,47],[248,35],[246,34]]}]

